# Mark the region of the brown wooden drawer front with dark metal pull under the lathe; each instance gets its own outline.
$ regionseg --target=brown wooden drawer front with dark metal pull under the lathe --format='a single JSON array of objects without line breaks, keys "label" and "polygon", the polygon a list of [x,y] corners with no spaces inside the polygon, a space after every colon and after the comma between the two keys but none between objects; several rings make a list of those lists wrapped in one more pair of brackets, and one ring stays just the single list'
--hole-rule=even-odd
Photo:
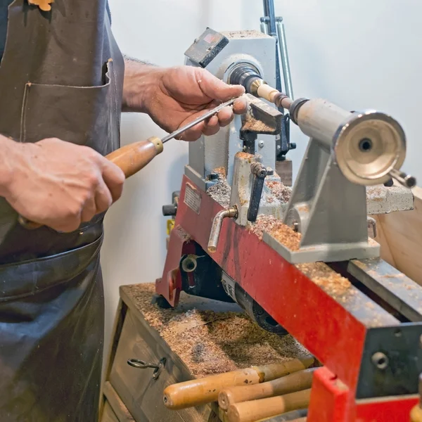
[{"label": "brown wooden drawer front with dark metal pull under the lathe", "polygon": [[[128,359],[158,363],[167,359],[165,369],[158,380],[153,379],[153,369],[136,369],[127,364]],[[177,361],[176,361],[177,362]],[[162,391],[167,385],[185,381],[183,373],[174,360],[174,354],[153,338],[146,323],[132,309],[127,309],[122,331],[111,367],[109,381],[117,395],[136,422],[189,422],[218,421],[209,406],[170,411],[162,402]]]}]

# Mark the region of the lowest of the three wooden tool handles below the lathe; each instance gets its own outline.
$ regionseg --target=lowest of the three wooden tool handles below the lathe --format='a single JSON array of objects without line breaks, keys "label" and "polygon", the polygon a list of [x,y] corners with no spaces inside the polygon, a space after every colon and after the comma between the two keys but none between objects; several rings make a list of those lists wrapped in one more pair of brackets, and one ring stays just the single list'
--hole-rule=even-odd
[{"label": "lowest of the three wooden tool handles below the lathe", "polygon": [[278,416],[287,411],[306,409],[309,406],[311,389],[290,394],[250,400],[249,402],[231,404],[227,411],[229,422],[256,422]]}]

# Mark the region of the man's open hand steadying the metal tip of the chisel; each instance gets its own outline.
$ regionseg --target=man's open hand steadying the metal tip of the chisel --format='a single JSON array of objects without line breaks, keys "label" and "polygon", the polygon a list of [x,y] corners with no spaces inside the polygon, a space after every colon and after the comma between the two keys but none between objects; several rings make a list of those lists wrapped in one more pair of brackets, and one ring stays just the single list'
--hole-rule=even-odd
[{"label": "man's open hand steadying the metal tip of the chisel", "polygon": [[[220,103],[241,96],[245,89],[225,84],[201,68],[156,68],[126,60],[123,92],[123,111],[148,113],[162,129],[173,132]],[[223,108],[218,115],[186,131],[181,139],[196,141],[201,134],[216,134],[233,120],[234,113],[245,113],[247,107],[247,101],[239,98],[233,109]]]}]

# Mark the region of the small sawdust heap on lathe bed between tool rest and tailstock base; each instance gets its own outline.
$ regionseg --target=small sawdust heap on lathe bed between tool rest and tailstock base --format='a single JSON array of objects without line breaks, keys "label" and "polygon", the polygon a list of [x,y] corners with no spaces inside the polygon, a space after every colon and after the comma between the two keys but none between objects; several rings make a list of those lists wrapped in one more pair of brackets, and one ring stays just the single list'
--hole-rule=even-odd
[{"label": "small sawdust heap on lathe bed between tool rest and tailstock base", "polygon": [[300,233],[293,231],[289,226],[283,224],[281,219],[277,219],[273,215],[258,215],[255,223],[249,223],[248,229],[251,233],[258,236],[262,240],[264,231],[274,237],[281,244],[290,250],[298,250],[300,246]]}]

